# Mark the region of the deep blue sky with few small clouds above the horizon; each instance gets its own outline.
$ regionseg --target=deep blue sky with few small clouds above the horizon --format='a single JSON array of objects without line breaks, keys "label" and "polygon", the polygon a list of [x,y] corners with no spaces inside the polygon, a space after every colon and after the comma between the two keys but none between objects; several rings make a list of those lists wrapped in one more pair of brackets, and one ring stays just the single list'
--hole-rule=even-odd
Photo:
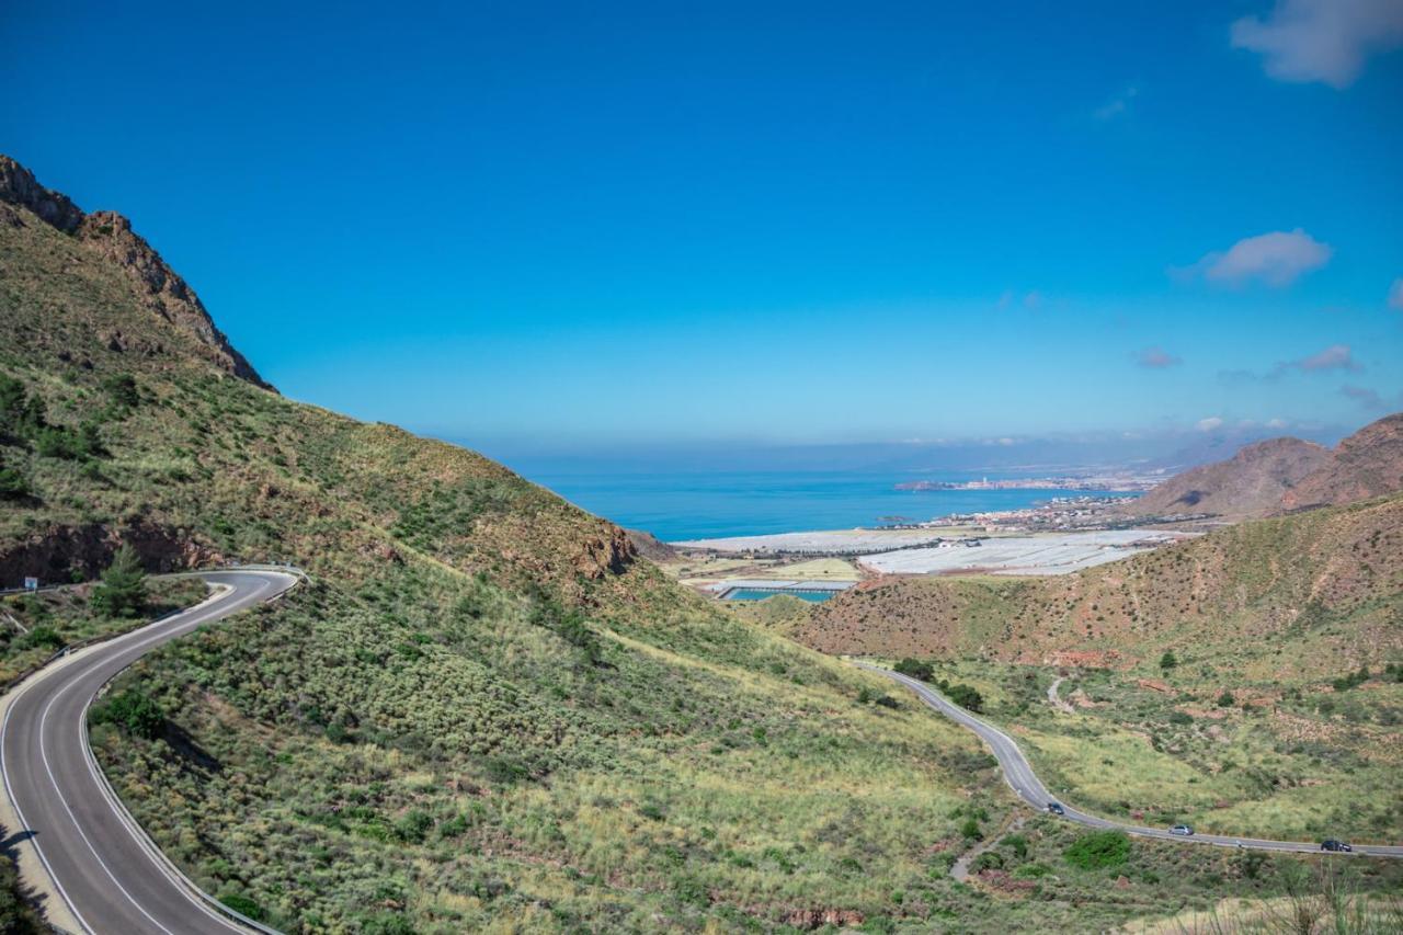
[{"label": "deep blue sky with few small clouds above the horizon", "polygon": [[7,4],[0,152],[296,399],[504,452],[1403,409],[1396,0],[192,6]]}]

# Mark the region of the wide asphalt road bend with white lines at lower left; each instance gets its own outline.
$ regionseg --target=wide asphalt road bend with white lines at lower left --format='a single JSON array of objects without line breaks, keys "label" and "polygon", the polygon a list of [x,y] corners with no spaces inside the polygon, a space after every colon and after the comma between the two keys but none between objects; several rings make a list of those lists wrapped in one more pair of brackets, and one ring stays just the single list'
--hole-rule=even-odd
[{"label": "wide asphalt road bend with white lines at lower left", "polygon": [[88,647],[38,671],[7,699],[0,776],[52,889],[88,932],[244,932],[177,877],[112,802],[87,740],[87,709],[118,672],[161,643],[271,601],[297,577],[283,571],[202,573],[210,599]]}]

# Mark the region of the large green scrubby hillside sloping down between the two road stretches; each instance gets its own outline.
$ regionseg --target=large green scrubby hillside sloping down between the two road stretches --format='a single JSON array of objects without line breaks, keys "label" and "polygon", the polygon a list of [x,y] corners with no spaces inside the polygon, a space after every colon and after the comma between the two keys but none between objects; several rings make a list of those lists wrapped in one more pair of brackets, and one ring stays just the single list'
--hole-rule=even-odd
[{"label": "large green scrubby hillside sloping down between the two road stretches", "polygon": [[1108,887],[1042,817],[953,882],[1013,814],[968,733],[478,455],[276,394],[125,220],[7,160],[0,327],[0,578],[118,543],[311,574],[122,677],[159,729],[93,729],[173,859],[278,928],[1069,931],[1282,884],[1136,844]]}]

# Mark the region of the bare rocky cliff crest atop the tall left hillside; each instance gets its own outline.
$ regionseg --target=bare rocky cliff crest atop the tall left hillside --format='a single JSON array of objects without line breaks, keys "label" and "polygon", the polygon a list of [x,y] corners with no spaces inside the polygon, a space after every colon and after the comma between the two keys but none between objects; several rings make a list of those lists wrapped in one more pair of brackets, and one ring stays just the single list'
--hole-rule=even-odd
[{"label": "bare rocky cliff crest atop the tall left hillside", "polygon": [[[22,227],[25,215],[14,208],[32,212],[42,222],[76,237],[86,248],[115,264],[136,286],[145,305],[156,314],[194,336],[203,355],[220,369],[241,379],[272,389],[253,365],[230,345],[223,331],[215,327],[199,296],[171,270],[160,254],[152,250],[132,222],[111,211],[84,213],[66,195],[51,191],[34,174],[0,154],[0,223]],[[109,340],[121,344],[121,336]]]}]

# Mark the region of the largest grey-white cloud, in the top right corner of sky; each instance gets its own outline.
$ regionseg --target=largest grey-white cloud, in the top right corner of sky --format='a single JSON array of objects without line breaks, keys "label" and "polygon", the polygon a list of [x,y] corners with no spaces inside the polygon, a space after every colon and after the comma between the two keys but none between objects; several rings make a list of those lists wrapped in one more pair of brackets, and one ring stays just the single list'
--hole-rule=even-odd
[{"label": "largest grey-white cloud, in the top right corner of sky", "polygon": [[1278,0],[1266,17],[1232,24],[1235,49],[1263,55],[1263,67],[1282,81],[1354,83],[1375,52],[1403,45],[1399,0]]}]

